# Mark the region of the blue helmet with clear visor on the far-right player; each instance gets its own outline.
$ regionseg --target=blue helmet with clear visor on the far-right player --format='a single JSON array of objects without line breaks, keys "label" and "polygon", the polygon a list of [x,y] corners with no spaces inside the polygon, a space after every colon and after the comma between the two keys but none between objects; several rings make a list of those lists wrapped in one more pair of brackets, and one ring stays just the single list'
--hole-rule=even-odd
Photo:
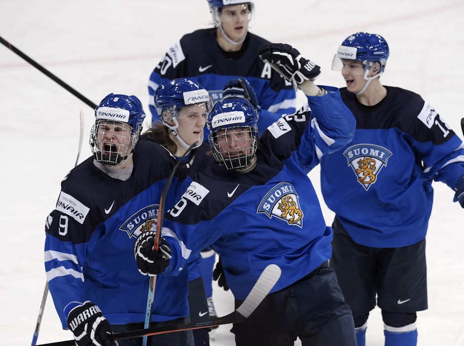
[{"label": "blue helmet with clear visor on the far-right player", "polygon": [[338,70],[340,59],[361,61],[365,70],[378,62],[380,72],[383,73],[390,51],[385,38],[378,34],[358,32],[346,38],[337,49],[337,54],[332,62],[332,70]]}]

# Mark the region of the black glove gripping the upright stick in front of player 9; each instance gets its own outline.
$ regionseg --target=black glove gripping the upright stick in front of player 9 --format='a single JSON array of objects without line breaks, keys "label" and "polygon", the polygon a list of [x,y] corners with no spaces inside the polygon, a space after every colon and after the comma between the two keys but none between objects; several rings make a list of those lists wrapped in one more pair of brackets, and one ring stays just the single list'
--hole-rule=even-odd
[{"label": "black glove gripping the upright stick in front of player 9", "polygon": [[155,231],[143,232],[135,240],[134,255],[137,268],[144,275],[161,274],[169,266],[171,249],[162,236],[159,237],[159,249],[153,251]]}]

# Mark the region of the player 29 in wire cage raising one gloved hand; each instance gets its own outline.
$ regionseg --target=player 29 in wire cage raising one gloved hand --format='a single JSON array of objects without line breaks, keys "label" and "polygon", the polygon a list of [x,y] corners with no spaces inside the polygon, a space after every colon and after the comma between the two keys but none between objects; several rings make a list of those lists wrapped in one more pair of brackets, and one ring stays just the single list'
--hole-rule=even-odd
[{"label": "player 29 in wire cage raising one gloved hand", "polygon": [[148,232],[137,238],[137,265],[145,274],[177,275],[189,255],[212,244],[239,306],[276,264],[282,276],[271,293],[232,328],[236,345],[293,345],[299,337],[305,346],[354,346],[352,315],[327,264],[332,230],[306,172],[351,140],[354,118],[337,88],[313,84],[319,67],[296,49],[272,44],[260,54],[308,95],[312,111],[281,117],[258,138],[259,114],[248,101],[217,102],[207,120],[217,163],[196,174],[165,215],[172,258],[144,250],[153,243]]}]

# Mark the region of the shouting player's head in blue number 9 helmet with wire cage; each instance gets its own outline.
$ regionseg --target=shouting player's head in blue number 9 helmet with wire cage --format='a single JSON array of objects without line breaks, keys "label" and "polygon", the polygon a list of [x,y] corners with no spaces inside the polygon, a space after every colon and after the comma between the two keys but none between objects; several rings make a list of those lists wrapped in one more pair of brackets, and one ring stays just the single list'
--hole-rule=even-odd
[{"label": "shouting player's head in blue number 9 helmet with wire cage", "polygon": [[103,165],[115,166],[132,153],[142,132],[145,112],[135,96],[109,94],[95,108],[90,148]]}]

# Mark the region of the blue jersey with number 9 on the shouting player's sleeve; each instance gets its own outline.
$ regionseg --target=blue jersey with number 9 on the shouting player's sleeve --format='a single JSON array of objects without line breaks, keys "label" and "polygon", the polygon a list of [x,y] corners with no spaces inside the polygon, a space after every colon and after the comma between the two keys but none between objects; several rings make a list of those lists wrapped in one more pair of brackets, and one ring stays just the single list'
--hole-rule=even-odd
[{"label": "blue jersey with number 9 on the shouting player's sleeve", "polygon": [[[139,142],[132,176],[121,181],[94,165],[93,157],[63,180],[56,209],[48,216],[45,270],[63,328],[69,311],[91,301],[111,324],[143,323],[149,277],[134,261],[134,242],[155,229],[160,193],[175,164],[163,147]],[[179,199],[192,180],[174,176],[166,206]],[[189,314],[188,271],[156,280],[153,321]]]}]

